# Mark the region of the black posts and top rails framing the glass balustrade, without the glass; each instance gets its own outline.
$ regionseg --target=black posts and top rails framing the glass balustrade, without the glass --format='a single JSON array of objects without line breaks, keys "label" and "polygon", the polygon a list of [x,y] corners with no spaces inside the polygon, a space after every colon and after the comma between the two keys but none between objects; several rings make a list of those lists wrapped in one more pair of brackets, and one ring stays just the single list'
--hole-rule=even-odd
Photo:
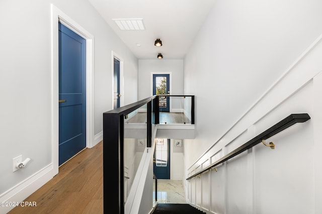
[{"label": "black posts and top rails framing the glass balustrade, without the glass", "polygon": [[[159,124],[158,103],[158,95],[154,95],[103,113],[103,200],[104,204],[110,204],[109,209],[113,210],[113,213],[124,213],[124,117],[147,104],[146,143],[147,147],[151,147],[152,113],[154,112],[154,124]],[[194,124],[194,96],[191,107],[191,123]],[[104,212],[109,213],[109,210],[104,209]]]}]

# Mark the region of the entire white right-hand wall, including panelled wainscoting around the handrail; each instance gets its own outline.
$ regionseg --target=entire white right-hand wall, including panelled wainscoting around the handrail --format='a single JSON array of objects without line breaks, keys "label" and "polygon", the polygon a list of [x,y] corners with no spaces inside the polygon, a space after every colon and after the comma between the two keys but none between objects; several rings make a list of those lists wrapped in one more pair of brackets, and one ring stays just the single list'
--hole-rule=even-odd
[{"label": "entire white right-hand wall, including panelled wainscoting around the handrail", "polygon": [[207,213],[321,212],[321,6],[216,2],[185,57],[185,93],[196,95],[186,177],[292,113],[311,120],[268,139],[275,150],[259,144],[186,182],[191,204]]}]

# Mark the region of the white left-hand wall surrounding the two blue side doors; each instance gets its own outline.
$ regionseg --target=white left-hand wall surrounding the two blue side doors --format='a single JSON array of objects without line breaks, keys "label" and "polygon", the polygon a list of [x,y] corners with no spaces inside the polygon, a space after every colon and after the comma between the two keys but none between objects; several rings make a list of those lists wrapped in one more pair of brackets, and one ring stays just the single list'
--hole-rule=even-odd
[{"label": "white left-hand wall surrounding the two blue side doors", "polygon": [[[124,59],[125,104],[137,101],[137,58],[88,1],[2,0],[1,201],[13,195],[24,199],[32,192],[32,188],[24,196],[16,194],[17,188],[24,188],[27,181],[32,185],[33,177],[51,165],[51,3],[95,38],[94,134],[100,135],[103,126],[102,114],[111,110],[112,51]],[[31,162],[26,168],[12,172],[12,158],[18,155],[31,158]]]}]

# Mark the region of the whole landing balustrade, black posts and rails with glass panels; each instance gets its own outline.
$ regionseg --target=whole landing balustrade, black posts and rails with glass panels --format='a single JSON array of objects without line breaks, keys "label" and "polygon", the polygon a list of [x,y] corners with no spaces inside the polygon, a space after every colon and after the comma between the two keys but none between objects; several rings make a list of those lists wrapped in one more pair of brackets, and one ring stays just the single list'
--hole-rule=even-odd
[{"label": "whole landing balustrade, black posts and rails with glass panels", "polygon": [[[131,189],[139,185],[140,180],[135,176],[141,174],[137,171],[141,169],[139,163],[147,154],[143,151],[151,147],[155,125],[160,124],[159,113],[181,114],[181,121],[163,120],[163,124],[195,124],[193,95],[161,95],[164,96],[161,97],[161,109],[158,96],[147,97],[103,114],[103,193],[104,196],[114,195],[112,198],[104,197],[104,202],[111,204],[110,208],[116,213],[124,213],[125,208],[120,204],[129,204],[129,208],[134,203]],[[169,107],[168,112],[166,106]]]}]

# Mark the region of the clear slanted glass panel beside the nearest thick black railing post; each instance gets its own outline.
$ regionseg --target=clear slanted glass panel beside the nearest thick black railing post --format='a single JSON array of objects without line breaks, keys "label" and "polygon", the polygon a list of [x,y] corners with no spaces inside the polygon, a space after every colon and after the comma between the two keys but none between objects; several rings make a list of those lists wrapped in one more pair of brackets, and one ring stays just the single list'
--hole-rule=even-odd
[{"label": "clear slanted glass panel beside the nearest thick black railing post", "polygon": [[124,198],[132,183],[146,147],[147,133],[146,104],[124,116]]}]

